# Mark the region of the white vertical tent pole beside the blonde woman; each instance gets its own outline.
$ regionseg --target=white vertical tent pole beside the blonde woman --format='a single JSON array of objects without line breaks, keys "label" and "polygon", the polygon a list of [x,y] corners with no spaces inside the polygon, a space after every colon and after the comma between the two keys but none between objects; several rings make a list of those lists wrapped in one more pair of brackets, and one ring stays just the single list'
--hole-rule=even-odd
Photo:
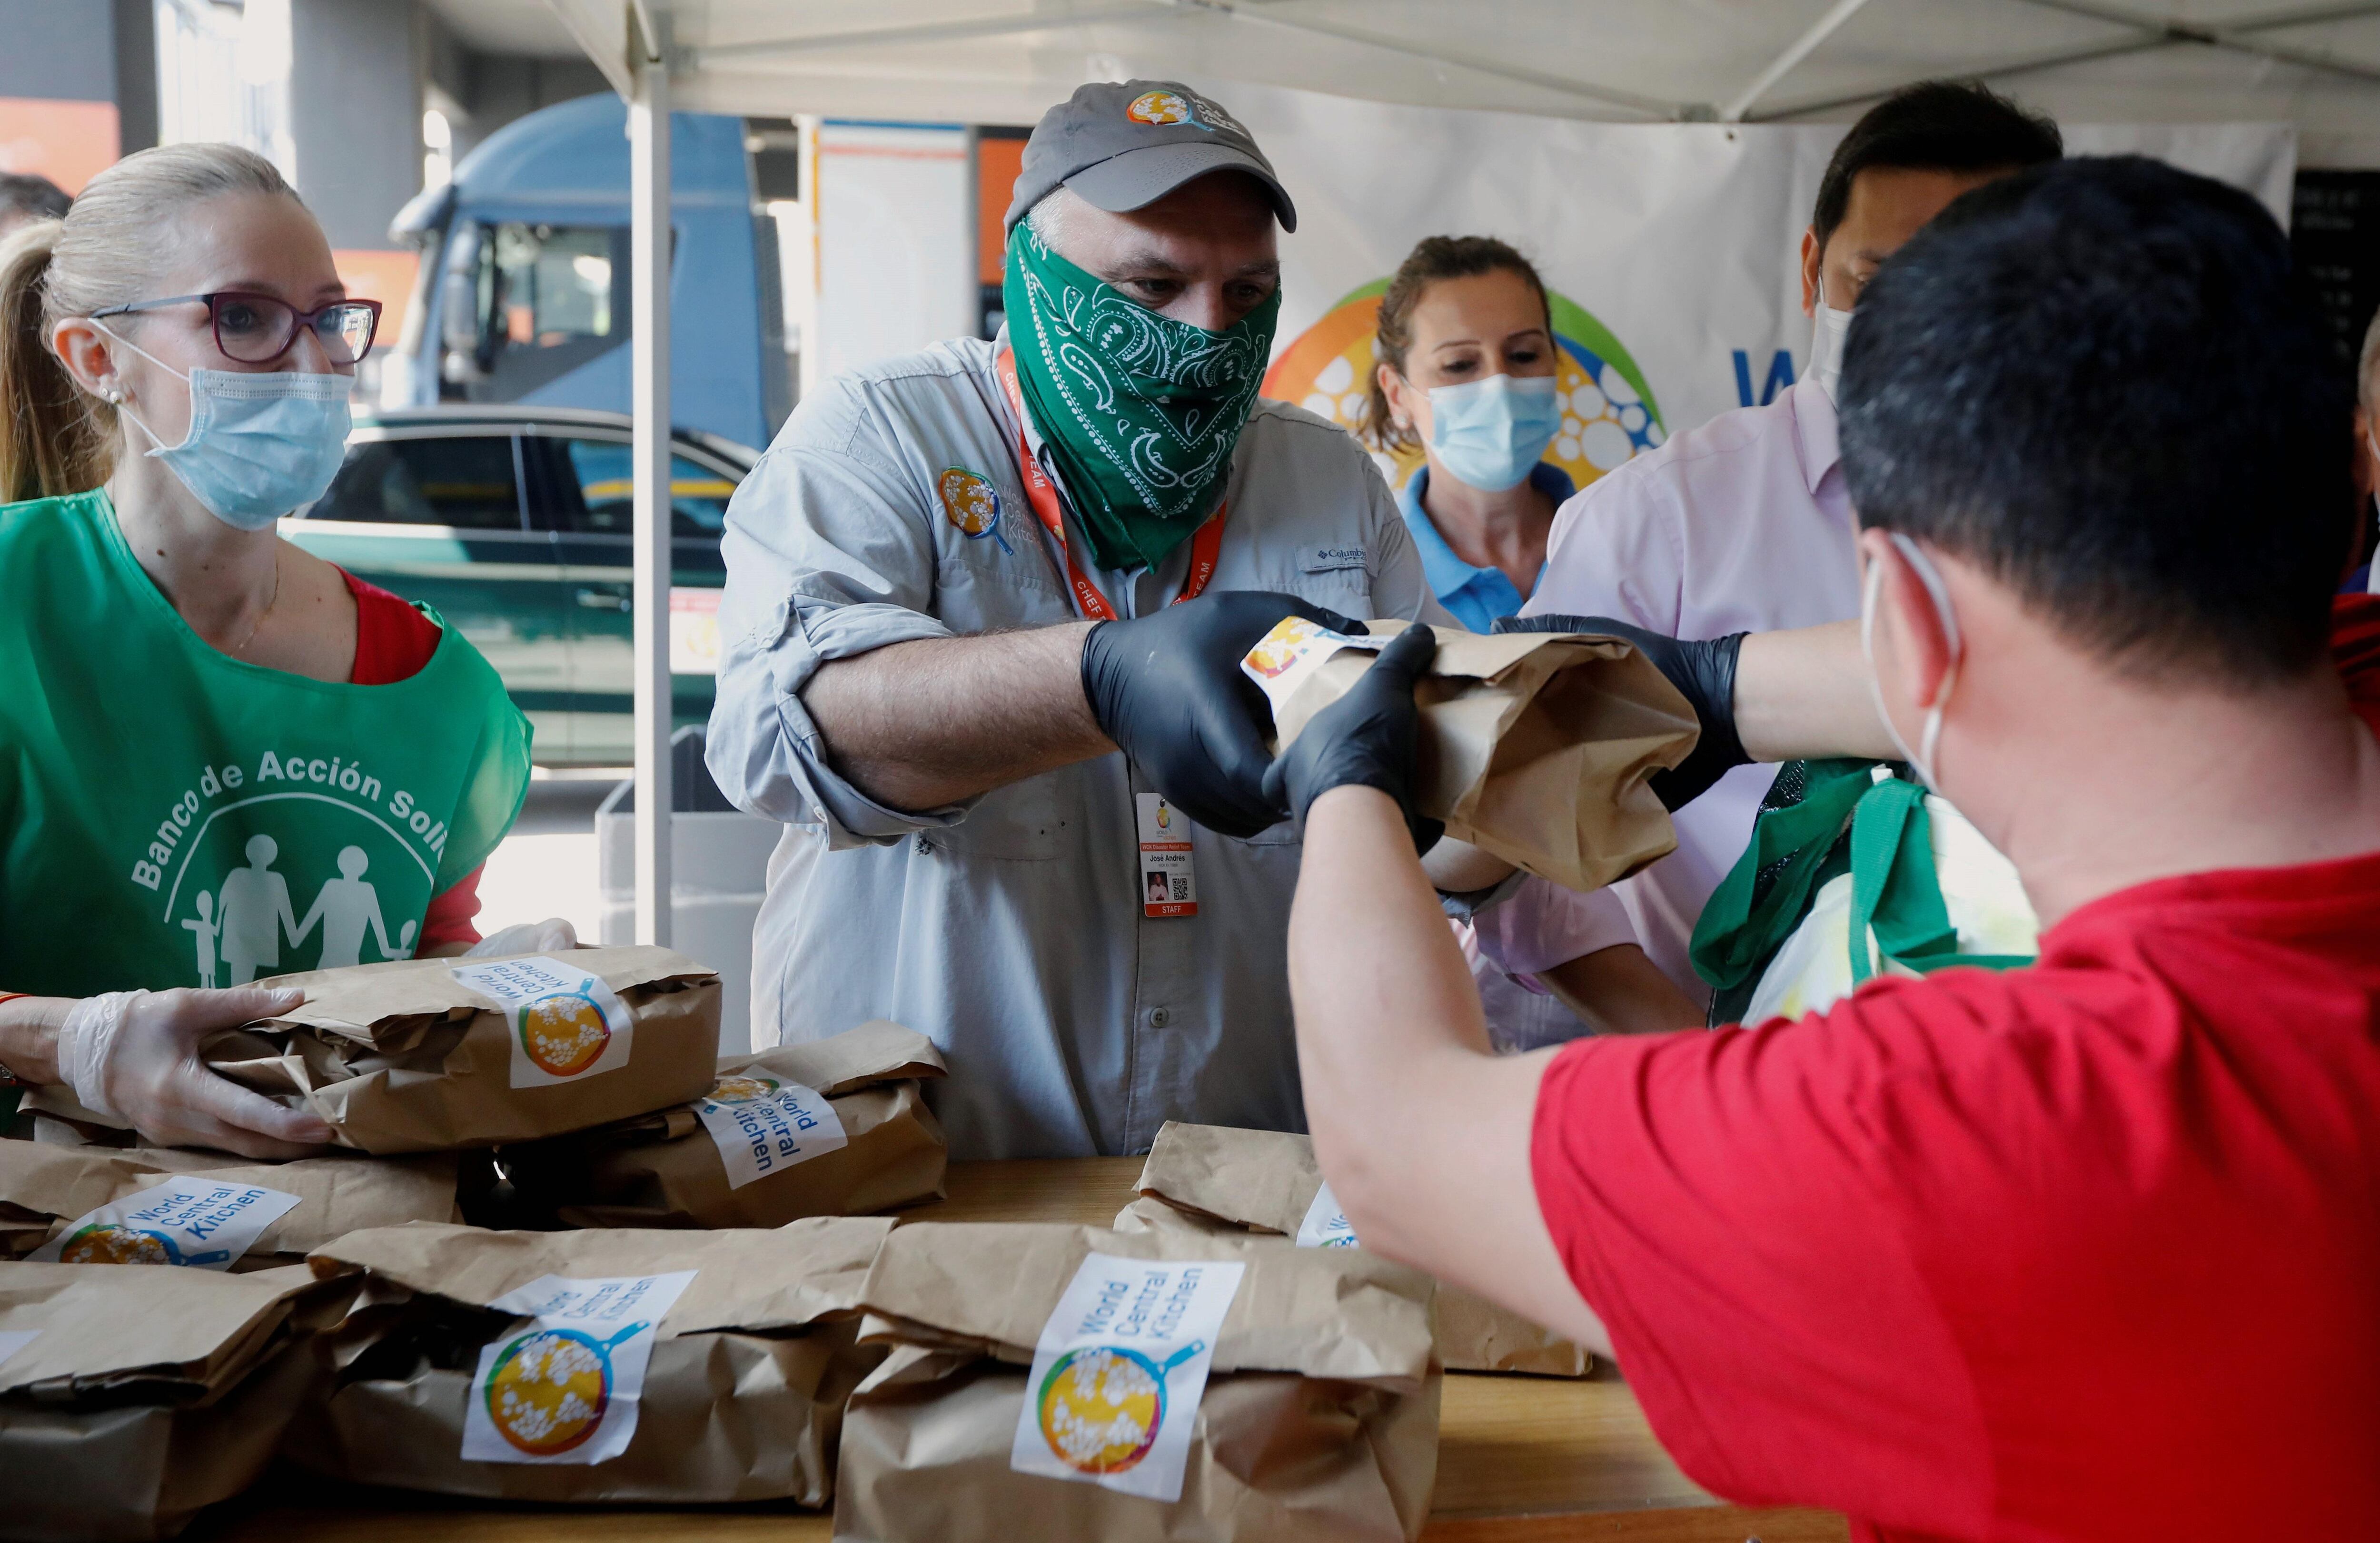
[{"label": "white vertical tent pole beside the blonde woman", "polygon": [[628,100],[628,402],[635,568],[635,941],[669,944],[669,62],[635,7]]}]

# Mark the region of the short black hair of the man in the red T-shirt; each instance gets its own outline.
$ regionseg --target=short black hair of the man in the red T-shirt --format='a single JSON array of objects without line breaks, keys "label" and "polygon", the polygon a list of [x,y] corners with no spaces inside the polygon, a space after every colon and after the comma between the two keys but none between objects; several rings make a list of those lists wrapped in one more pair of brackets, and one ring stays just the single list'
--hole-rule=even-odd
[{"label": "short black hair of the man in the red T-shirt", "polygon": [[2325,654],[2354,399],[2247,193],[2144,157],[1966,193],[1861,292],[1840,402],[1861,525],[2128,673],[2263,685]]}]

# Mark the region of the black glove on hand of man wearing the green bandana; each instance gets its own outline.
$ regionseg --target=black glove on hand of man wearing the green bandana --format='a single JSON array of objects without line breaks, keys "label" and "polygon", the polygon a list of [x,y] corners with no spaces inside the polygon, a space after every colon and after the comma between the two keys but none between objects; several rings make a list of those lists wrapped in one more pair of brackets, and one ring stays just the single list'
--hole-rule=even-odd
[{"label": "black glove on hand of man wearing the green bandana", "polygon": [[1102,621],[1083,640],[1083,697],[1157,792],[1207,830],[1252,837],[1290,818],[1264,792],[1273,708],[1240,661],[1285,616],[1364,625],[1266,590],[1202,594],[1154,616]]}]

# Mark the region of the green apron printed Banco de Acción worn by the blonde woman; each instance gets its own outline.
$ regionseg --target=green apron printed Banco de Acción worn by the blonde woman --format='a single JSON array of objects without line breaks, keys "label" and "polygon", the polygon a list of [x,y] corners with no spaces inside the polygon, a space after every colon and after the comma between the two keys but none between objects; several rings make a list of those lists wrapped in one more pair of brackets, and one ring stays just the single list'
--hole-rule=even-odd
[{"label": "green apron printed Banco de Acci\u00f3n worn by the blonde woman", "polygon": [[0,989],[236,987],[409,958],[528,792],[528,723],[445,628],[395,685],[202,642],[105,492],[0,506]]}]

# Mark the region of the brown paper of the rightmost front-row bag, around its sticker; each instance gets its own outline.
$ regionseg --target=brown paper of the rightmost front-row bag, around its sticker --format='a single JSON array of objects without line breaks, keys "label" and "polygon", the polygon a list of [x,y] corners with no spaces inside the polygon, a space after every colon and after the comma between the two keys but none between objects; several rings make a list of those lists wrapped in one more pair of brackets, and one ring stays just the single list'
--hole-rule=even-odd
[{"label": "brown paper of the rightmost front-row bag, around its sticker", "polygon": [[[1092,1253],[1245,1267],[1197,1405],[1159,1400],[1154,1427],[1140,1427],[1157,1462],[1166,1422],[1190,1419],[1176,1500],[1012,1467],[1028,1446],[1028,1391],[1047,1417],[1061,1386],[1064,1362],[1028,1386],[1035,1343]],[[912,1222],[885,1239],[864,1296],[862,1343],[892,1355],[843,1422],[838,1543],[1421,1533],[1440,1393],[1423,1274],[1361,1251],[1254,1239]]]}]

